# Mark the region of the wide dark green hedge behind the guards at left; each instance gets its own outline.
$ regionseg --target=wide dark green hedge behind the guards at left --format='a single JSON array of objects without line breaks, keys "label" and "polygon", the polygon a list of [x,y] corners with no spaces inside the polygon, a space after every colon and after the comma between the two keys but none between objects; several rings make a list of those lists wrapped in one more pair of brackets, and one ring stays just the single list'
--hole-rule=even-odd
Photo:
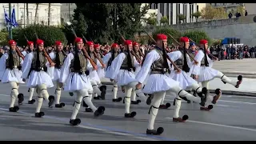
[{"label": "wide dark green hedge behind the guards at left", "polygon": [[[18,42],[19,46],[26,46],[26,38],[28,38],[29,41],[36,42],[34,32],[36,32],[38,38],[45,42],[45,46],[52,46],[55,41],[62,41],[63,44],[67,42],[62,29],[55,26],[42,25],[31,25],[27,26],[25,29],[15,29],[13,38]],[[24,35],[26,35],[26,38]]]}]

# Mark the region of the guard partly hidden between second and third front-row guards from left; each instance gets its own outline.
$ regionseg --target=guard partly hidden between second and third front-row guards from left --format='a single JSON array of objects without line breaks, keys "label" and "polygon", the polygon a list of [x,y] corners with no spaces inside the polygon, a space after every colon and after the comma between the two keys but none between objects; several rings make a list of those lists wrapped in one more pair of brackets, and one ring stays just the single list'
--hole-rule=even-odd
[{"label": "guard partly hidden between second and third front-row guards from left", "polygon": [[56,101],[55,101],[55,107],[57,108],[62,108],[65,106],[64,102],[59,102],[62,94],[62,87],[60,86],[60,83],[58,82],[60,75],[61,75],[61,69],[62,65],[64,63],[64,60],[66,58],[66,53],[64,50],[62,50],[62,42],[61,41],[56,41],[55,42],[56,50],[52,51],[49,55],[50,58],[54,61],[55,66],[54,66],[54,74],[52,75],[52,80],[53,82],[56,82],[56,89],[55,89],[55,94],[56,94]]}]

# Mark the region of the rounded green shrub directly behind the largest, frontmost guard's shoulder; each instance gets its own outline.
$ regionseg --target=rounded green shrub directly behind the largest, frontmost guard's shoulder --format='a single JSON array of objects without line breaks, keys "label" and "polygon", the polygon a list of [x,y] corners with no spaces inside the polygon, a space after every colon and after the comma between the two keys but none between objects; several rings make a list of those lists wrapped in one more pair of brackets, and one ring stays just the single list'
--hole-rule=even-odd
[{"label": "rounded green shrub directly behind the largest, frontmost guard's shoulder", "polygon": [[178,30],[174,30],[170,27],[163,26],[159,26],[157,30],[155,30],[152,34],[153,38],[156,38],[157,34],[166,34],[168,36],[168,44],[175,43],[174,40],[170,38],[168,34],[173,36],[176,40],[178,40],[182,36],[182,34]]}]

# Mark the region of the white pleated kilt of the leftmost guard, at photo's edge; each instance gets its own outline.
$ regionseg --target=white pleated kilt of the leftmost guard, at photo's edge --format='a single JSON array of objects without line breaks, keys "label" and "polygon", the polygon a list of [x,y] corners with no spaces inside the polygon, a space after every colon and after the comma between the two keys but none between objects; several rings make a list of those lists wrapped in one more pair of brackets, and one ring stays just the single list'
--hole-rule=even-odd
[{"label": "white pleated kilt of the leftmost guard, at photo's edge", "polygon": [[2,74],[2,83],[6,82],[25,83],[22,81],[22,70],[18,70],[17,68],[13,70],[6,69]]}]

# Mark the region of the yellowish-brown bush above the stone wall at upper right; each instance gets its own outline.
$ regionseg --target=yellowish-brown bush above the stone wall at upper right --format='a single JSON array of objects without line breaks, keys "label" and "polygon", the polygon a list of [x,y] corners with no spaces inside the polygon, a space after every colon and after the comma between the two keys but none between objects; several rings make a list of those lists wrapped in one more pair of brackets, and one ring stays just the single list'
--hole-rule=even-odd
[{"label": "yellowish-brown bush above the stone wall at upper right", "polygon": [[202,8],[202,18],[204,19],[214,19],[214,18],[226,18],[226,10],[224,8],[214,8],[212,6],[206,6]]}]

